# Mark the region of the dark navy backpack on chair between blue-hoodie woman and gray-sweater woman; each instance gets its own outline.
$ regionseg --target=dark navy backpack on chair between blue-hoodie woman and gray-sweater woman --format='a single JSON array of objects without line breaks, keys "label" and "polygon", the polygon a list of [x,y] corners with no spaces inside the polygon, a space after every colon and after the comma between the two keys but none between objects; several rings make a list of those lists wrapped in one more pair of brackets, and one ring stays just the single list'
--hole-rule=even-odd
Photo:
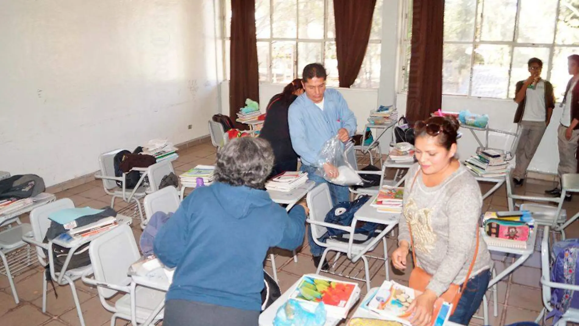
[{"label": "dark navy backpack on chair between blue-hoodie woman and gray-sweater woman", "polygon": [[[342,226],[350,226],[352,224],[352,220],[354,219],[354,213],[356,213],[358,209],[360,209],[362,205],[364,205],[369,199],[369,195],[361,195],[357,200],[354,201],[339,202],[338,205],[334,206],[334,208],[332,208],[331,211],[326,214],[324,222]],[[358,222],[356,224],[356,229],[354,229],[354,233],[366,234],[368,237],[365,240],[354,240],[353,243],[361,244],[368,241],[368,239],[374,235],[377,228],[378,223]],[[347,233],[347,231],[331,229],[329,227],[327,231],[327,234],[330,238],[343,242],[348,241],[347,238],[343,237],[344,234]]]}]

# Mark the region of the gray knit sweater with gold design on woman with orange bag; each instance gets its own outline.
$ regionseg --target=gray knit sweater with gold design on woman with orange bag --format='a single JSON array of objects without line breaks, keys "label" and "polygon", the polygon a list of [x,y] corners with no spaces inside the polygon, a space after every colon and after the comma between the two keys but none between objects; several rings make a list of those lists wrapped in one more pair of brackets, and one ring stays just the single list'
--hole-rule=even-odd
[{"label": "gray knit sweater with gold design on woman with orange bag", "polygon": [[[422,173],[416,173],[418,170],[419,165],[415,164],[408,171],[398,242],[410,243],[410,223],[417,264],[433,276],[427,288],[441,295],[451,282],[461,284],[466,278],[475,252],[481,189],[463,165],[435,187],[424,186]],[[470,277],[491,266],[481,234]]]}]

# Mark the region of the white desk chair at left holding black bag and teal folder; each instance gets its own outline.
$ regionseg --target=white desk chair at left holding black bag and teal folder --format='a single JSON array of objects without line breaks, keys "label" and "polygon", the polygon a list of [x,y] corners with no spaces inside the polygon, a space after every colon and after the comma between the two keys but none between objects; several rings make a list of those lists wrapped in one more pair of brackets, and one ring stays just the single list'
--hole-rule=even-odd
[{"label": "white desk chair at left holding black bag and teal folder", "polygon": [[[60,271],[54,270],[54,259],[52,255],[52,241],[49,241],[47,244],[43,243],[46,236],[46,232],[50,227],[50,220],[48,216],[53,213],[60,211],[61,209],[67,208],[74,208],[74,203],[69,198],[63,198],[61,200],[57,200],[54,202],[50,202],[49,204],[43,205],[41,207],[35,208],[30,212],[30,223],[32,225],[32,236],[25,234],[22,237],[24,242],[36,246],[36,257],[38,258],[38,262],[43,266],[49,266],[50,270],[50,277],[52,278],[53,282],[56,282],[58,285],[70,285],[72,291],[72,299],[74,300],[76,306],[76,313],[78,314],[78,318],[80,320],[80,325],[85,326],[85,320],[82,317],[82,310],[80,310],[80,302],[78,300],[78,295],[76,294],[76,287],[74,284],[75,280],[78,280],[83,273],[87,271],[92,271],[92,266],[83,266],[76,269],[69,269],[67,270],[67,264],[63,266],[63,269]],[[127,226],[128,227],[128,226]],[[132,236],[132,233],[131,233]],[[49,256],[46,257],[44,250],[49,252]],[[68,255],[71,256],[76,248],[71,248]],[[42,273],[42,312],[46,312],[46,292],[47,292],[47,280],[45,273]]]}]

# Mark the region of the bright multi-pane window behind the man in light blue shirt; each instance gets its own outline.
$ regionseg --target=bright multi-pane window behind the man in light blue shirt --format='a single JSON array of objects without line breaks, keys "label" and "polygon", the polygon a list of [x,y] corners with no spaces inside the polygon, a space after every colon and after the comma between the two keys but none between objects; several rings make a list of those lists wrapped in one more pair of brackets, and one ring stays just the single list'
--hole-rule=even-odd
[{"label": "bright multi-pane window behind the man in light blue shirt", "polygon": [[[352,87],[378,88],[382,1],[376,1],[368,49]],[[229,79],[230,0],[223,0],[224,66]],[[306,64],[319,62],[328,72],[328,86],[338,86],[333,0],[255,0],[259,81],[288,84]]]}]

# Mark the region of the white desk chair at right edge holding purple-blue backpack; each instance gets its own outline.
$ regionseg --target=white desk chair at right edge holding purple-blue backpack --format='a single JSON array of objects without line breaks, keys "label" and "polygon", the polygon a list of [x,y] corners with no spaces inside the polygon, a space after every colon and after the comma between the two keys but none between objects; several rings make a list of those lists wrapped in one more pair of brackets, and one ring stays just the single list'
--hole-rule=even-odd
[{"label": "white desk chair at right edge holding purple-blue backpack", "polygon": [[[569,289],[571,291],[579,291],[579,285],[556,283],[551,281],[551,252],[549,251],[549,237],[545,234],[549,233],[549,226],[543,229],[543,241],[541,241],[541,287],[543,289],[543,310],[535,320],[535,323],[545,316],[545,312],[554,309],[551,306],[551,289]],[[569,308],[563,316],[559,319],[557,326],[564,326],[567,322],[579,323],[579,309]]]}]

